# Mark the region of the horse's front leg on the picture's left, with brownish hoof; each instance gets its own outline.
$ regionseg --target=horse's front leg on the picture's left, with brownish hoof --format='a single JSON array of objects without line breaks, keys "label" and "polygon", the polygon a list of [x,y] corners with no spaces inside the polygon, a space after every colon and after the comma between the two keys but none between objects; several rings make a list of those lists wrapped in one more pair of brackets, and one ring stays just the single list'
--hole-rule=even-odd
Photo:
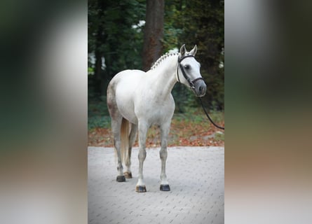
[{"label": "horse's front leg on the picture's left, with brownish hoof", "polygon": [[143,162],[147,157],[147,151],[145,150],[147,129],[148,124],[139,120],[139,179],[137,180],[137,185],[135,186],[135,191],[139,193],[147,192],[147,188],[143,181]]}]

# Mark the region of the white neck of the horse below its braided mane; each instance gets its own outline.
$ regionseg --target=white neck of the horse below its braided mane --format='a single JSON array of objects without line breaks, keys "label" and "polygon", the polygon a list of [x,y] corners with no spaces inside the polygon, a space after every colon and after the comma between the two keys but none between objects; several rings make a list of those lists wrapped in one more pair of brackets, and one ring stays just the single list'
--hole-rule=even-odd
[{"label": "white neck of the horse below its braided mane", "polygon": [[161,62],[156,69],[151,69],[151,86],[160,96],[168,97],[177,83],[177,55],[170,56]]}]

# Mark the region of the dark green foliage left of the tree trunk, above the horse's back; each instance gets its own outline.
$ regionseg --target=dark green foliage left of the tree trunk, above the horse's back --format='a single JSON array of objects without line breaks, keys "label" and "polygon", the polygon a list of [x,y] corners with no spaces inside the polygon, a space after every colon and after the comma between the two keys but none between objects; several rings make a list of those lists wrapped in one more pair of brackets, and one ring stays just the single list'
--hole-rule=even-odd
[{"label": "dark green foliage left of the tree trunk, above the horse's back", "polygon": [[[142,67],[143,32],[133,28],[145,18],[145,1],[88,1],[88,52],[101,63],[90,63],[95,76],[88,76],[89,96],[104,94],[109,80],[124,69]],[[100,85],[100,86],[99,86]]]}]

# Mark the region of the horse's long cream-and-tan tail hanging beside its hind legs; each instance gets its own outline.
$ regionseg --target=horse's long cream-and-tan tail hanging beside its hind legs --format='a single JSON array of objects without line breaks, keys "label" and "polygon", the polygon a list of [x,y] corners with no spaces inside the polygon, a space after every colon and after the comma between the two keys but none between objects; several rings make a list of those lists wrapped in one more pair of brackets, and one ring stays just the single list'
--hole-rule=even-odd
[{"label": "horse's long cream-and-tan tail hanging beside its hind legs", "polygon": [[121,121],[121,162],[123,164],[126,164],[126,161],[129,160],[129,133],[130,123],[123,118]]}]

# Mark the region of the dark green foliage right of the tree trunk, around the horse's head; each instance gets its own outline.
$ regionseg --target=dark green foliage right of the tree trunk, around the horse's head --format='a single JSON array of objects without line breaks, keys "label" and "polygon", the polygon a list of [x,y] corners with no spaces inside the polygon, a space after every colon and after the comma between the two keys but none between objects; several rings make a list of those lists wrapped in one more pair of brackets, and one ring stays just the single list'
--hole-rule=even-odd
[{"label": "dark green foliage right of the tree trunk, around the horse's head", "polygon": [[[201,62],[201,74],[207,83],[203,101],[210,109],[224,109],[224,1],[177,1],[165,4],[165,50],[179,48],[183,43],[189,50],[198,46],[196,59]],[[199,106],[194,95],[175,87],[178,111]]]}]

